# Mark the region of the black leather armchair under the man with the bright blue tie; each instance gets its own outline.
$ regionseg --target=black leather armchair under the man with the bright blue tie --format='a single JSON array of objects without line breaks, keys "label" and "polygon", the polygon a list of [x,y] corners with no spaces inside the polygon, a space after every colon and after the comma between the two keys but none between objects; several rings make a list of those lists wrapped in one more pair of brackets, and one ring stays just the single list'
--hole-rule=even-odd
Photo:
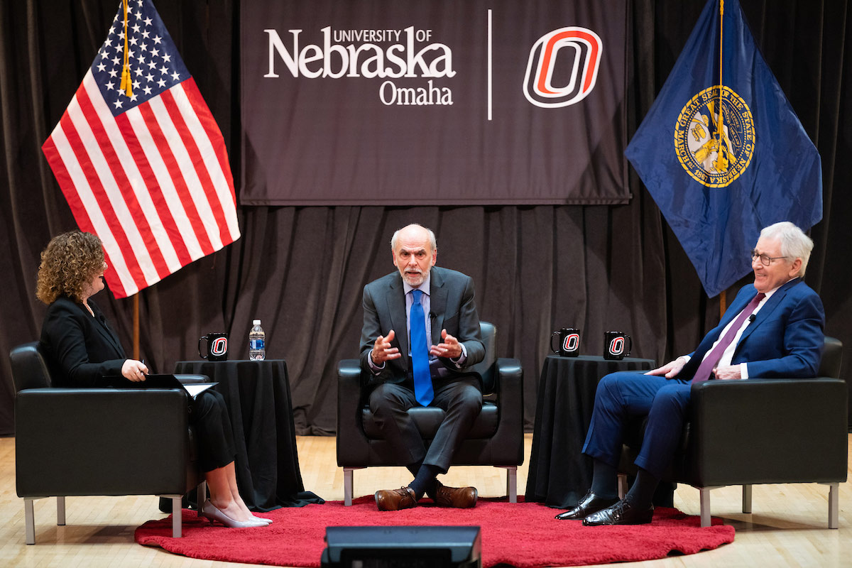
[{"label": "black leather armchair under the man with the bright blue tie", "polygon": [[[482,376],[483,404],[469,436],[453,456],[452,465],[505,468],[509,502],[517,502],[517,469],[524,460],[523,370],[517,359],[498,359],[497,328],[481,322],[485,358],[473,370]],[[344,502],[352,504],[353,472],[370,466],[401,466],[373,422],[366,404],[367,377],[358,359],[337,365],[337,465],[343,468]],[[423,439],[434,438],[444,419],[435,407],[409,410]]]}]

